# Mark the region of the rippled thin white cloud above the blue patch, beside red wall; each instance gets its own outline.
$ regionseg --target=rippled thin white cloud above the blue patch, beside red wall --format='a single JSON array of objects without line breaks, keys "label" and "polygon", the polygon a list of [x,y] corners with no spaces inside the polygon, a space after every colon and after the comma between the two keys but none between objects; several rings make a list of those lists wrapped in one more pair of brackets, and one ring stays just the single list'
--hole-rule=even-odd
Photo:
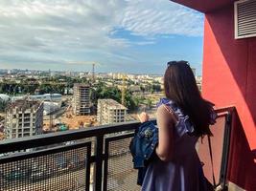
[{"label": "rippled thin white cloud above the blue patch, beside red wall", "polygon": [[202,14],[170,1],[128,1],[121,26],[137,35],[202,35]]}]

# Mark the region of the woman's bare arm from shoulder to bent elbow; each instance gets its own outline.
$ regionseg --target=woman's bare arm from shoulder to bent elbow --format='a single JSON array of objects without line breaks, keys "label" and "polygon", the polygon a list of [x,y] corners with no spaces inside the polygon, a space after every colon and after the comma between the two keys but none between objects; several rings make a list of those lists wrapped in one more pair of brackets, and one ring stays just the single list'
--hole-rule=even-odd
[{"label": "woman's bare arm from shoulder to bent elbow", "polygon": [[175,117],[167,111],[164,105],[158,107],[156,112],[157,126],[159,128],[159,141],[156,154],[163,161],[170,161],[174,153],[174,127]]}]

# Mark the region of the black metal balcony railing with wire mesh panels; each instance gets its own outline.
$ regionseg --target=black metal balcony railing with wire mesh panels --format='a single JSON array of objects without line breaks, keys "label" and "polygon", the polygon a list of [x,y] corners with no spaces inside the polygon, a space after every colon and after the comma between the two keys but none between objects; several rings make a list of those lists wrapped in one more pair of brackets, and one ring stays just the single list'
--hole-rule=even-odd
[{"label": "black metal balcony railing with wire mesh panels", "polygon": [[[217,112],[226,125],[230,113]],[[126,122],[4,140],[1,191],[140,190],[128,149],[138,126]]]}]

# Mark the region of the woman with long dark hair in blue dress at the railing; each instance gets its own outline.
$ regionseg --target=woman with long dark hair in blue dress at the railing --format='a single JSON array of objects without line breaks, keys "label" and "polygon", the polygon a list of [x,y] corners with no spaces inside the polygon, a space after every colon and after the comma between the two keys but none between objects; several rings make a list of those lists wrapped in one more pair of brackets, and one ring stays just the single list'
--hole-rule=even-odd
[{"label": "woman with long dark hair in blue dress at the railing", "polygon": [[[166,98],[160,100],[156,112],[159,142],[155,153],[159,159],[149,165],[142,190],[205,190],[195,146],[198,138],[211,135],[209,125],[216,117],[213,104],[200,96],[186,61],[168,62],[164,89]],[[148,119],[146,113],[140,115],[141,122]]]}]

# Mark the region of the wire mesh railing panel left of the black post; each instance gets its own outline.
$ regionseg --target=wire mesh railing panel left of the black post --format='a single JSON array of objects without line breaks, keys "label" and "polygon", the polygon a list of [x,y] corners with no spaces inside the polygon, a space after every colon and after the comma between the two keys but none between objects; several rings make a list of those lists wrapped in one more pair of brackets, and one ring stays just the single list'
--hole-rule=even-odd
[{"label": "wire mesh railing panel left of the black post", "polygon": [[[78,147],[77,147],[78,146]],[[1,191],[68,191],[85,190],[88,187],[89,170],[87,159],[88,146],[58,148],[17,156],[18,160],[0,165]],[[16,154],[11,154],[16,156]]]}]

